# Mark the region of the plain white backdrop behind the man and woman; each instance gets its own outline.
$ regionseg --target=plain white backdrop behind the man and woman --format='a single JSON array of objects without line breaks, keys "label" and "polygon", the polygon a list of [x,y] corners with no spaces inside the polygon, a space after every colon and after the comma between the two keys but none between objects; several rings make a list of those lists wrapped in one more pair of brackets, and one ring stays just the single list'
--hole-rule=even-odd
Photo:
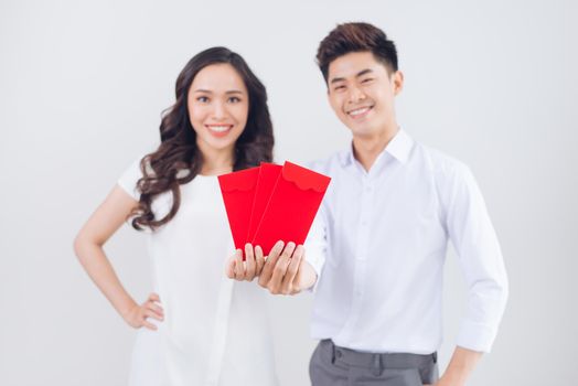
[{"label": "plain white backdrop behind the man and woman", "polygon": [[[2,0],[0,384],[126,384],[135,331],[76,261],[76,232],[156,143],[176,75],[212,45],[239,52],[266,84],[277,161],[345,147],[314,65],[319,41],[345,21],[397,43],[400,124],[471,167],[500,236],[510,303],[469,385],[576,383],[577,10],[570,0]],[[142,300],[141,235],[125,227],[106,251]],[[450,255],[442,367],[464,299]],[[281,383],[307,385],[311,299],[270,300]]]}]

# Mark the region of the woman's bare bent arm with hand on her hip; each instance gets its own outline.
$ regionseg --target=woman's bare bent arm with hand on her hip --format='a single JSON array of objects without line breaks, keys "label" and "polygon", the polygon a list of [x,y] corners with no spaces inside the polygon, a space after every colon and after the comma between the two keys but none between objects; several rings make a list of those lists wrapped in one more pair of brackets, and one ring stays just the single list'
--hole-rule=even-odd
[{"label": "woman's bare bent arm with hand on her hip", "polygon": [[74,250],[90,279],[129,325],[156,330],[157,326],[148,322],[147,318],[162,321],[162,309],[157,304],[160,301],[159,297],[151,293],[149,299],[139,305],[120,283],[103,249],[137,204],[138,202],[120,186],[115,186],[78,232],[74,240]]}]

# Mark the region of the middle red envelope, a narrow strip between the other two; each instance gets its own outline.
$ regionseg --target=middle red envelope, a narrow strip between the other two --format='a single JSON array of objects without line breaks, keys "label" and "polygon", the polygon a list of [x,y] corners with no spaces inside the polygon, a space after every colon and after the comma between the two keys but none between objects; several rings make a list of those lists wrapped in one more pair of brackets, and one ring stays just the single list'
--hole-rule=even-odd
[{"label": "middle red envelope, a narrow strip between the other two", "polygon": [[255,233],[257,232],[263,214],[267,208],[277,179],[279,178],[279,174],[281,174],[281,165],[261,162],[259,180],[257,181],[257,187],[255,189],[255,200],[253,201],[247,240],[253,240],[255,237]]}]

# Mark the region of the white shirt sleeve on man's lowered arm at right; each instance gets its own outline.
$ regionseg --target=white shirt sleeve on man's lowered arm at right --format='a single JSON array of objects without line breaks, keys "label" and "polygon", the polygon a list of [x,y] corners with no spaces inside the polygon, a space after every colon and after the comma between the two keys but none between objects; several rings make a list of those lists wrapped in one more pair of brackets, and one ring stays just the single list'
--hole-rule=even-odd
[{"label": "white shirt sleeve on man's lowered arm at right", "polygon": [[468,286],[468,310],[457,344],[490,352],[509,293],[502,251],[469,168],[458,164],[442,180],[446,227]]}]

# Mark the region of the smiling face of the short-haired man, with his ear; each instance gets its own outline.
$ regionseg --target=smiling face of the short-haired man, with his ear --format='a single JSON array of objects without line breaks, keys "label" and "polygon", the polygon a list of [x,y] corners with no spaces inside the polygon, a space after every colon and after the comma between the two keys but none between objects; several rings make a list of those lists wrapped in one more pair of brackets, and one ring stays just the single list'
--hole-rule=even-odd
[{"label": "smiling face of the short-haired man, with his ear", "polygon": [[375,138],[397,130],[394,98],[403,83],[403,74],[389,75],[373,53],[349,53],[329,65],[329,103],[354,137]]}]

